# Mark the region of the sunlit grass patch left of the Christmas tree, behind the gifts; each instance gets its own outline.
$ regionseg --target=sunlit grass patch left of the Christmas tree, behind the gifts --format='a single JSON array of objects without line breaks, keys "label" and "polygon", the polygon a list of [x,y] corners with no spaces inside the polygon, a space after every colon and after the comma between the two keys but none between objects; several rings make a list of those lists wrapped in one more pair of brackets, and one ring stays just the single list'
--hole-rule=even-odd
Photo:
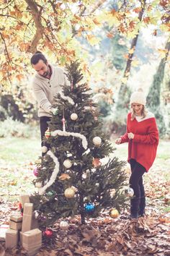
[{"label": "sunlit grass patch left of the Christmas tree, behind the gifts", "polygon": [[40,138],[0,138],[0,196],[13,201],[35,191],[32,163],[41,155]]}]

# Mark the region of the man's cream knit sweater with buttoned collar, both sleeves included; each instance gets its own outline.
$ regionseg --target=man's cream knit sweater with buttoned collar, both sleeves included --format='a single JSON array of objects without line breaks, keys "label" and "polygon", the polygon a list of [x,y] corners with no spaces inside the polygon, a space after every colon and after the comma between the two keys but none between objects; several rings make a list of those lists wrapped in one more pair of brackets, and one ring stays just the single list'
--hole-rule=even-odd
[{"label": "man's cream knit sweater with buttoned collar, both sleeves included", "polygon": [[50,80],[35,74],[32,81],[33,92],[37,100],[38,116],[51,116],[53,111],[54,96],[61,91],[61,85],[68,85],[68,80],[60,67],[51,66]]}]

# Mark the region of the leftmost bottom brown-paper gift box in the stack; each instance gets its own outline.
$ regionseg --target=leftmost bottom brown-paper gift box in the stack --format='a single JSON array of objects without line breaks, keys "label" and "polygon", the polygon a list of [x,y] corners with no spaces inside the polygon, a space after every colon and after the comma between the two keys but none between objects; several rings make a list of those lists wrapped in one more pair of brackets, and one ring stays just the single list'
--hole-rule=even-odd
[{"label": "leftmost bottom brown-paper gift box in the stack", "polygon": [[18,244],[18,231],[14,229],[7,229],[5,246],[6,248],[17,247]]}]

